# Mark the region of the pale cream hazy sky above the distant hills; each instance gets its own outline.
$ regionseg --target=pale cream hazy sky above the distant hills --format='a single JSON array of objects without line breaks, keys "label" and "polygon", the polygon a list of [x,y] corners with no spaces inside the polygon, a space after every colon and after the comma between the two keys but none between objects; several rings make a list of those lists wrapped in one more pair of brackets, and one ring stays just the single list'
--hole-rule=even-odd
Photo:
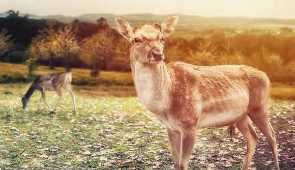
[{"label": "pale cream hazy sky above the distant hills", "polygon": [[0,0],[0,13],[9,9],[35,15],[181,13],[295,19],[295,0]]}]

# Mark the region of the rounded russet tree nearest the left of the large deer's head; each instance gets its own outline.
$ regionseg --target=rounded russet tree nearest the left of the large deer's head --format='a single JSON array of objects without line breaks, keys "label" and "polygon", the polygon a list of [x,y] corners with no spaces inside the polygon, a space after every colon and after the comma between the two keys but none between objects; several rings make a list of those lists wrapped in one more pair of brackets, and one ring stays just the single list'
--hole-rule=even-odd
[{"label": "rounded russet tree nearest the left of the large deer's head", "polygon": [[114,30],[103,29],[84,43],[79,57],[94,71],[108,69],[109,62],[115,56],[116,42]]}]

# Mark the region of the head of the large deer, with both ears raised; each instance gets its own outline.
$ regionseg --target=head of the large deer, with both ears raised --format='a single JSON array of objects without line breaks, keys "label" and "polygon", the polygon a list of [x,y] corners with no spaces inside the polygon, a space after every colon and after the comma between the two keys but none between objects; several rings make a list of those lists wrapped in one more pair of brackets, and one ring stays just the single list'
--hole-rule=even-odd
[{"label": "head of the large deer, with both ears raised", "polygon": [[164,40],[171,35],[177,24],[178,16],[165,21],[162,25],[137,26],[133,30],[130,25],[115,19],[119,33],[131,43],[130,59],[141,63],[159,64],[164,59]]}]

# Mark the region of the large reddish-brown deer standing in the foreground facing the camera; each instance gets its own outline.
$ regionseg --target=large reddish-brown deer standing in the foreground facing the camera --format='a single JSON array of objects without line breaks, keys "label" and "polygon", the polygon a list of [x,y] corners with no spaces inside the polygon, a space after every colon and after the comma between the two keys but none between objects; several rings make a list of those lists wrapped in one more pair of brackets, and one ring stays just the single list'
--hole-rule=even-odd
[{"label": "large reddish-brown deer standing in the foreground facing the camera", "polygon": [[242,170],[248,170],[258,135],[266,136],[275,170],[279,170],[275,132],[268,120],[266,73],[246,65],[165,65],[165,37],[174,32],[178,16],[131,28],[116,18],[118,32],[131,44],[132,77],[139,100],[166,127],[175,170],[187,170],[196,132],[206,127],[237,127],[247,147]]}]

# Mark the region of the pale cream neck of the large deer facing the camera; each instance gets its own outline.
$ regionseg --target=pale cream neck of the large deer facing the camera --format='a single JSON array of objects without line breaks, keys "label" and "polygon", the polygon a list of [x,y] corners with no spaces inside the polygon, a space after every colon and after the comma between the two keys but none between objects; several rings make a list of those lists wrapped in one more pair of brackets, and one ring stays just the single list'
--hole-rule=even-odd
[{"label": "pale cream neck of the large deer facing the camera", "polygon": [[171,80],[165,63],[150,64],[131,61],[132,76],[137,95],[152,113],[164,113],[171,89]]}]

